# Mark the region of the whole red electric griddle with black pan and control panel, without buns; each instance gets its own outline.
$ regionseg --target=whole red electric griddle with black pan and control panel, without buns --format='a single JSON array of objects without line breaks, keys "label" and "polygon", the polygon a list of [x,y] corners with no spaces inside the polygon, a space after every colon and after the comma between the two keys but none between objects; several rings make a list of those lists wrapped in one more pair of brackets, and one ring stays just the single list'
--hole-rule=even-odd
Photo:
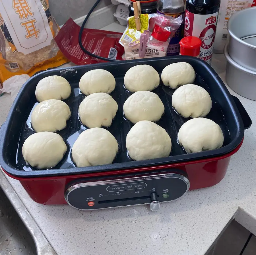
[{"label": "whole red electric griddle with black pan and control panel, without buns", "polygon": [[[157,124],[170,135],[172,152],[166,158],[133,161],[125,147],[126,135],[133,124],[123,117],[123,103],[131,94],[124,88],[124,75],[129,68],[139,64],[153,66],[161,75],[164,67],[175,62],[191,64],[196,72],[194,83],[209,92],[212,109],[206,117],[221,127],[224,144],[215,150],[186,153],[177,142],[177,133],[188,119],[172,108],[174,90],[160,83],[153,92],[161,98],[165,112]],[[78,107],[85,97],[80,93],[79,80],[92,69],[106,69],[116,79],[116,88],[111,96],[117,101],[118,111],[107,130],[115,136],[119,151],[113,164],[77,168],[70,152],[79,134],[86,129],[78,118]],[[30,114],[38,104],[36,85],[49,75],[63,76],[72,88],[71,96],[64,100],[72,115],[67,127],[58,132],[68,150],[56,167],[37,170],[26,165],[22,145],[34,133]],[[250,125],[251,119],[240,101],[230,95],[217,73],[199,58],[175,56],[58,68],[34,75],[21,88],[1,127],[0,165],[8,176],[20,181],[37,203],[69,203],[81,210],[150,204],[151,210],[157,210],[161,202],[176,200],[189,189],[209,187],[220,182],[226,174],[230,157],[243,142],[244,130]]]}]

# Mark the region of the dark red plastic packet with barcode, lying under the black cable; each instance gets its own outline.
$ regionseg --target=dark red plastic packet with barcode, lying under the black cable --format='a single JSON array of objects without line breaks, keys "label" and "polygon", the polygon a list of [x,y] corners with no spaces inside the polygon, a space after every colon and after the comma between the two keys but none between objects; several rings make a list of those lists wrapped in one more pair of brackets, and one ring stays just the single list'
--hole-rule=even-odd
[{"label": "dark red plastic packet with barcode, lying under the black cable", "polygon": [[[79,31],[80,26],[70,18],[55,37],[55,41],[64,56],[77,65],[106,62],[82,51],[78,42]],[[82,43],[86,50],[98,56],[122,60],[124,49],[118,43],[121,35],[121,33],[111,31],[84,28]]]}]

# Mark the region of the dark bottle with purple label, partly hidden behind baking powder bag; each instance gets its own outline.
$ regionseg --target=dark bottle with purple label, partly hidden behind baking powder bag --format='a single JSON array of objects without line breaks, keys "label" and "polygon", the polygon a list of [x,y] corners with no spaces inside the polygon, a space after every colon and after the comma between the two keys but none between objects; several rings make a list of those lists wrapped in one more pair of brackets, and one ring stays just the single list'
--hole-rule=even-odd
[{"label": "dark bottle with purple label, partly hidden behind baking powder bag", "polygon": [[174,56],[179,54],[179,41],[183,38],[184,32],[184,13],[185,13],[185,0],[158,0],[157,1],[157,13],[169,15],[174,18],[183,16],[183,21],[176,33],[172,37],[167,56]]}]

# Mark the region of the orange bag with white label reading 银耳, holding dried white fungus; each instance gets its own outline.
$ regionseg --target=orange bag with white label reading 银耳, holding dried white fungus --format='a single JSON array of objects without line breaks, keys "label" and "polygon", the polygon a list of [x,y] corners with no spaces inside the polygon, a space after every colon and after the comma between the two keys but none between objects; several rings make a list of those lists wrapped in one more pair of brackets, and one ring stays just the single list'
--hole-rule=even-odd
[{"label": "orange bag with white label reading \u94f6\u8033, holding dried white fungus", "polygon": [[68,60],[54,41],[59,26],[48,0],[0,2],[0,81],[54,68]]}]

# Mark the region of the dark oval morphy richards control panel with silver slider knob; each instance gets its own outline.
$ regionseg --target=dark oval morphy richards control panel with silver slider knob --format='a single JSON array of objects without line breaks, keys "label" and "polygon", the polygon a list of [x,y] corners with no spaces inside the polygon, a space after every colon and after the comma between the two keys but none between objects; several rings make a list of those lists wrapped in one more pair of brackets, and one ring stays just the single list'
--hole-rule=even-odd
[{"label": "dark oval morphy richards control panel with silver slider knob", "polygon": [[150,204],[150,209],[156,211],[161,202],[174,201],[188,190],[189,180],[181,174],[148,174],[71,184],[65,191],[65,199],[80,210]]}]

